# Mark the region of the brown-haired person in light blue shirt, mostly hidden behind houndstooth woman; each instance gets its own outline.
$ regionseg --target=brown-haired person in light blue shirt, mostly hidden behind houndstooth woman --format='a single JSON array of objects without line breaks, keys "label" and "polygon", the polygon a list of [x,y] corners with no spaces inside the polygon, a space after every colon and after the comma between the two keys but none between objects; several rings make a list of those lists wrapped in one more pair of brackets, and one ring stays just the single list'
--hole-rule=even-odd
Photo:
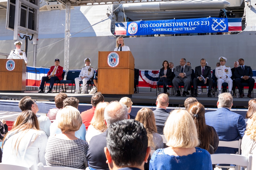
[{"label": "brown-haired person in light blue shirt, mostly hidden behind houndstooth woman", "polygon": [[[79,100],[75,97],[68,97],[65,100],[63,100],[63,108],[66,106],[72,106],[74,108],[78,108]],[[56,121],[52,122],[50,125],[50,136],[56,135],[61,133],[61,129],[58,128],[58,123],[60,120],[60,116],[62,114],[62,111],[58,111],[56,115]],[[86,129],[84,124],[80,126],[80,128],[75,132],[75,136],[79,139],[85,140],[85,135],[86,135]]]}]

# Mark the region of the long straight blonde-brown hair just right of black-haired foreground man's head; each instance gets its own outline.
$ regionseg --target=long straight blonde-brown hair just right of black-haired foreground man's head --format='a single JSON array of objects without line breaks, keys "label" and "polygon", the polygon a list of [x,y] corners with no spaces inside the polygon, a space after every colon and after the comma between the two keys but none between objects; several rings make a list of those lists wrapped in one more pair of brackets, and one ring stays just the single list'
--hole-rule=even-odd
[{"label": "long straight blonde-brown hair just right of black-haired foreground man's head", "polygon": [[153,141],[153,133],[157,133],[157,129],[154,112],[151,109],[142,108],[137,112],[135,120],[143,124],[147,131],[148,146],[152,147],[152,149],[155,149],[156,146]]}]

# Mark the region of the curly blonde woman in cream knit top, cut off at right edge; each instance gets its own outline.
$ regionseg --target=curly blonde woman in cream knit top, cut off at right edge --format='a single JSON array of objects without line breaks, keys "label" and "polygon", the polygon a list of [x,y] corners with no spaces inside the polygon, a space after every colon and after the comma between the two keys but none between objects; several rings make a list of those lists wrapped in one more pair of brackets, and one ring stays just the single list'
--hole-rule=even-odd
[{"label": "curly blonde woman in cream knit top, cut off at right edge", "polygon": [[[251,107],[251,106],[250,106]],[[256,113],[251,115],[251,122],[247,125],[246,131],[244,132],[241,150],[242,155],[248,156],[249,154],[256,153]],[[253,158],[255,162],[255,158]]]}]

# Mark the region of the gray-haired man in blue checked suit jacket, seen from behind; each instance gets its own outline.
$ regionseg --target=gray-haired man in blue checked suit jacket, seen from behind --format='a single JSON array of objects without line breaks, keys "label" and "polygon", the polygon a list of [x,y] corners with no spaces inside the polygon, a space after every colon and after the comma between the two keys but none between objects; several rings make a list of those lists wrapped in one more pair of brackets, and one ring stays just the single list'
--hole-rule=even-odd
[{"label": "gray-haired man in blue checked suit jacket, seen from behind", "polygon": [[[219,136],[220,141],[235,141],[242,139],[246,130],[246,123],[243,116],[231,112],[233,97],[229,93],[221,93],[217,102],[218,109],[214,112],[205,113],[205,122],[213,126]],[[228,147],[218,147],[215,153],[235,154],[238,149]]]}]

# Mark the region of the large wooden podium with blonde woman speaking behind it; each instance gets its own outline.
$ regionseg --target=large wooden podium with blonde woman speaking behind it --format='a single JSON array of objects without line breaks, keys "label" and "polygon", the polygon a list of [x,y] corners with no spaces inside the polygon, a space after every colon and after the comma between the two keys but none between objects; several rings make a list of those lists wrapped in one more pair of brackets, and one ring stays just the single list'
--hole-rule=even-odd
[{"label": "large wooden podium with blonde woman speaking behind it", "polygon": [[[119,56],[112,66],[111,57]],[[112,57],[112,58],[113,58]],[[113,60],[118,62],[117,60]],[[102,94],[132,96],[134,93],[134,58],[131,51],[99,51],[98,91]]]}]

